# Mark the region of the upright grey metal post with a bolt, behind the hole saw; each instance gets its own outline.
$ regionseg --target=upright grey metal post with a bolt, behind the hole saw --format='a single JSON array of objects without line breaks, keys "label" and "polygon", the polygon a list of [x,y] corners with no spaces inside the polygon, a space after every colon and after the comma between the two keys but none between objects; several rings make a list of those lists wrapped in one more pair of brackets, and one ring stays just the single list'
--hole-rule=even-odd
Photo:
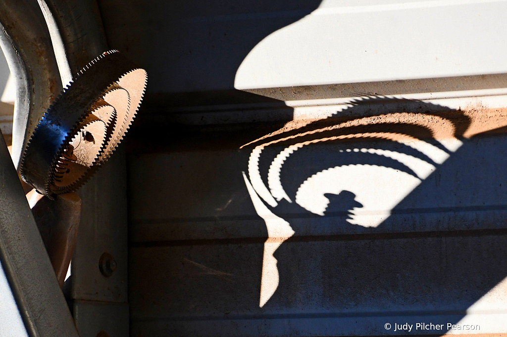
[{"label": "upright grey metal post with a bolt, behind the hole saw", "polygon": [[[57,26],[61,45],[53,44],[63,50],[72,74],[110,49],[95,0],[39,3]],[[123,336],[129,330],[125,151],[120,146],[115,152],[77,192],[82,199],[80,233],[64,289],[70,288],[69,300],[82,337]]]}]

